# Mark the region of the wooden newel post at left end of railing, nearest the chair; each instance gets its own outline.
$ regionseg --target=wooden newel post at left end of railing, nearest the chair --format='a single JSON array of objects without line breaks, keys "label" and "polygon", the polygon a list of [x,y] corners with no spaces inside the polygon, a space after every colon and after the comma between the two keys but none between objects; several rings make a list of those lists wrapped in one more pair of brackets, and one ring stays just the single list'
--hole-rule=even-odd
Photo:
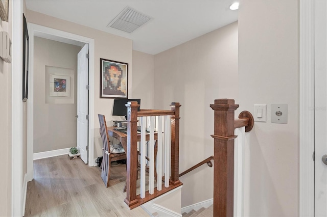
[{"label": "wooden newel post at left end of railing, nearest the chair", "polygon": [[127,155],[126,159],[126,198],[125,203],[130,207],[138,202],[136,199],[137,179],[137,102],[128,102],[127,107]]}]

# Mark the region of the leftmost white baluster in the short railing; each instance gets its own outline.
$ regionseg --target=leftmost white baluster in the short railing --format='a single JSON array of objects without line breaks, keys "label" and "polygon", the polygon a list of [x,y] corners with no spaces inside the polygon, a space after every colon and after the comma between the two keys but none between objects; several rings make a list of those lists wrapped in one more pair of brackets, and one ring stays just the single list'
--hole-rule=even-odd
[{"label": "leftmost white baluster in the short railing", "polygon": [[145,169],[146,169],[146,138],[145,138],[146,117],[141,117],[141,142],[139,143],[139,153],[141,161],[141,198],[145,198]]}]

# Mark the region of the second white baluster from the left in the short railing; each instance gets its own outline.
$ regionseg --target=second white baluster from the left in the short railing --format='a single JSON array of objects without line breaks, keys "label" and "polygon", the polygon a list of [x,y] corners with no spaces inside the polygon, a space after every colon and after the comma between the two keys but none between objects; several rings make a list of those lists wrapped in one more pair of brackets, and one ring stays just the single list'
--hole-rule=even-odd
[{"label": "second white baluster from the left in the short railing", "polygon": [[149,141],[149,194],[152,195],[154,191],[154,116],[150,116],[150,141]]}]

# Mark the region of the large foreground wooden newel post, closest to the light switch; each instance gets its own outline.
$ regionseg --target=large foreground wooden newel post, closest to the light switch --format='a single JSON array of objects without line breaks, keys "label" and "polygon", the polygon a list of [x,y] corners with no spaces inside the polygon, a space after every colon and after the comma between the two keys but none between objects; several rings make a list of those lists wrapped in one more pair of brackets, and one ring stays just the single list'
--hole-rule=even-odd
[{"label": "large foreground wooden newel post, closest to the light switch", "polygon": [[234,113],[233,99],[215,99],[214,135],[214,216],[233,216]]}]

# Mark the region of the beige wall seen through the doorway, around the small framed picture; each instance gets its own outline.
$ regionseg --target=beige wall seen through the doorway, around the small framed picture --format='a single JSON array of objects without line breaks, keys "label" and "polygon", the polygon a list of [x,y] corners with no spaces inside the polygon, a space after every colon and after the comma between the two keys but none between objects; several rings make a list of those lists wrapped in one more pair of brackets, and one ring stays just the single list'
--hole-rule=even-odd
[{"label": "beige wall seen through the doorway, around the small framed picture", "polygon": [[[34,37],[34,153],[77,146],[75,116],[80,50],[80,46]],[[49,96],[49,67],[58,67],[56,74],[70,77],[69,97]],[[65,74],[67,71],[72,73]]]}]

